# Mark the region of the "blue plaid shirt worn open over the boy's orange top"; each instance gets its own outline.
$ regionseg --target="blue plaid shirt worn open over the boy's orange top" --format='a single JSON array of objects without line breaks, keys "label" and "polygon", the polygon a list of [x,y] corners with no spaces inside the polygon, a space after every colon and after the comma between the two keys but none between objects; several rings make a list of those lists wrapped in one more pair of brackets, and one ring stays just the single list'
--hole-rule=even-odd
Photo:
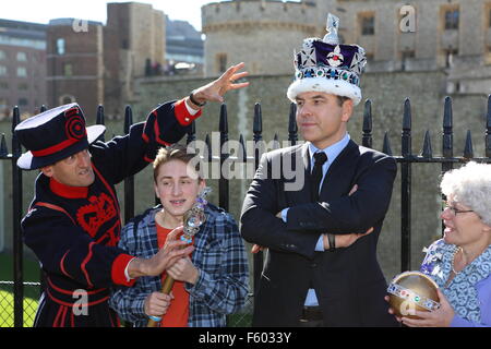
[{"label": "blue plaid shirt worn open over the boy's orange top", "polygon": [[[119,248],[149,258],[158,251],[157,206],[133,218],[121,231]],[[224,327],[226,315],[240,310],[248,294],[248,257],[239,229],[230,214],[208,204],[206,221],[194,237],[193,264],[200,268],[195,285],[185,284],[190,296],[190,327]],[[136,229],[134,224],[136,221]],[[113,289],[109,305],[135,327],[146,326],[145,298],[160,291],[160,277],[140,277],[131,288]]]}]

